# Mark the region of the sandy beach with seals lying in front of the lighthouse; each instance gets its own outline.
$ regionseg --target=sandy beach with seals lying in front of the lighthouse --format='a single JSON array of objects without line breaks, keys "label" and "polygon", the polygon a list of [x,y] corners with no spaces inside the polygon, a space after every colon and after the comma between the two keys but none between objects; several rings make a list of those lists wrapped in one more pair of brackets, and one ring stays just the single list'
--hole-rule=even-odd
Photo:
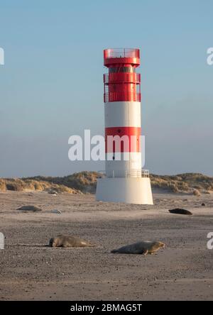
[{"label": "sandy beach with seals lying in front of the lighthouse", "polygon": [[[97,202],[91,194],[0,192],[1,300],[212,300],[213,195],[153,194],[154,206]],[[201,206],[202,202],[206,206]],[[35,205],[38,213],[19,206]],[[184,208],[193,216],[170,214]],[[62,213],[51,211],[58,209]],[[49,248],[59,233],[94,248]],[[155,255],[115,255],[114,248],[158,240]]]}]

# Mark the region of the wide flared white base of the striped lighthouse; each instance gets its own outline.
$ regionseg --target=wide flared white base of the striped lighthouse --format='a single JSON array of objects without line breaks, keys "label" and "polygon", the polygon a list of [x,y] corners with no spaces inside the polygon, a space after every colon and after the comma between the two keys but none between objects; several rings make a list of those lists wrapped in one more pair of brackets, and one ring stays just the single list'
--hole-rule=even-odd
[{"label": "wide flared white base of the striped lighthouse", "polygon": [[148,177],[98,179],[96,199],[126,204],[153,204],[150,179]]}]

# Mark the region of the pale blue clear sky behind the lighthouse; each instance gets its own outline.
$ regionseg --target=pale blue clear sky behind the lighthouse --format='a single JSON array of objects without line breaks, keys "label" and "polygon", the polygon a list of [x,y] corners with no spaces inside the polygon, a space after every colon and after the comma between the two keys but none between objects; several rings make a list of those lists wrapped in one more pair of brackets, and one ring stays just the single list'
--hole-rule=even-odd
[{"label": "pale blue clear sky behind the lighthouse", "polygon": [[213,1],[0,0],[0,177],[102,170],[68,138],[104,133],[102,50],[141,49],[146,168],[213,175]]}]

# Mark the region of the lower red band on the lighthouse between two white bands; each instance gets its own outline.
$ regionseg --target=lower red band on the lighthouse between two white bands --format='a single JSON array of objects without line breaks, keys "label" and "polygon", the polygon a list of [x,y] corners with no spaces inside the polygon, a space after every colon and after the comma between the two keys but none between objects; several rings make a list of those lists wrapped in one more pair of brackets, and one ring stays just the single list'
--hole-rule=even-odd
[{"label": "lower red band on the lighthouse between two white bands", "polygon": [[105,128],[105,152],[141,152],[140,136],[141,127]]}]

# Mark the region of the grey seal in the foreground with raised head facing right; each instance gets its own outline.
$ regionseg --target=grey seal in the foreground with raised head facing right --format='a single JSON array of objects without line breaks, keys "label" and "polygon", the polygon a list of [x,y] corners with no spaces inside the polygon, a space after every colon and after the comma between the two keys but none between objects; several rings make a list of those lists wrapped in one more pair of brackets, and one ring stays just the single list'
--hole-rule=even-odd
[{"label": "grey seal in the foreground with raised head facing right", "polygon": [[152,255],[160,248],[165,248],[165,244],[155,241],[143,241],[111,250],[111,253]]}]

